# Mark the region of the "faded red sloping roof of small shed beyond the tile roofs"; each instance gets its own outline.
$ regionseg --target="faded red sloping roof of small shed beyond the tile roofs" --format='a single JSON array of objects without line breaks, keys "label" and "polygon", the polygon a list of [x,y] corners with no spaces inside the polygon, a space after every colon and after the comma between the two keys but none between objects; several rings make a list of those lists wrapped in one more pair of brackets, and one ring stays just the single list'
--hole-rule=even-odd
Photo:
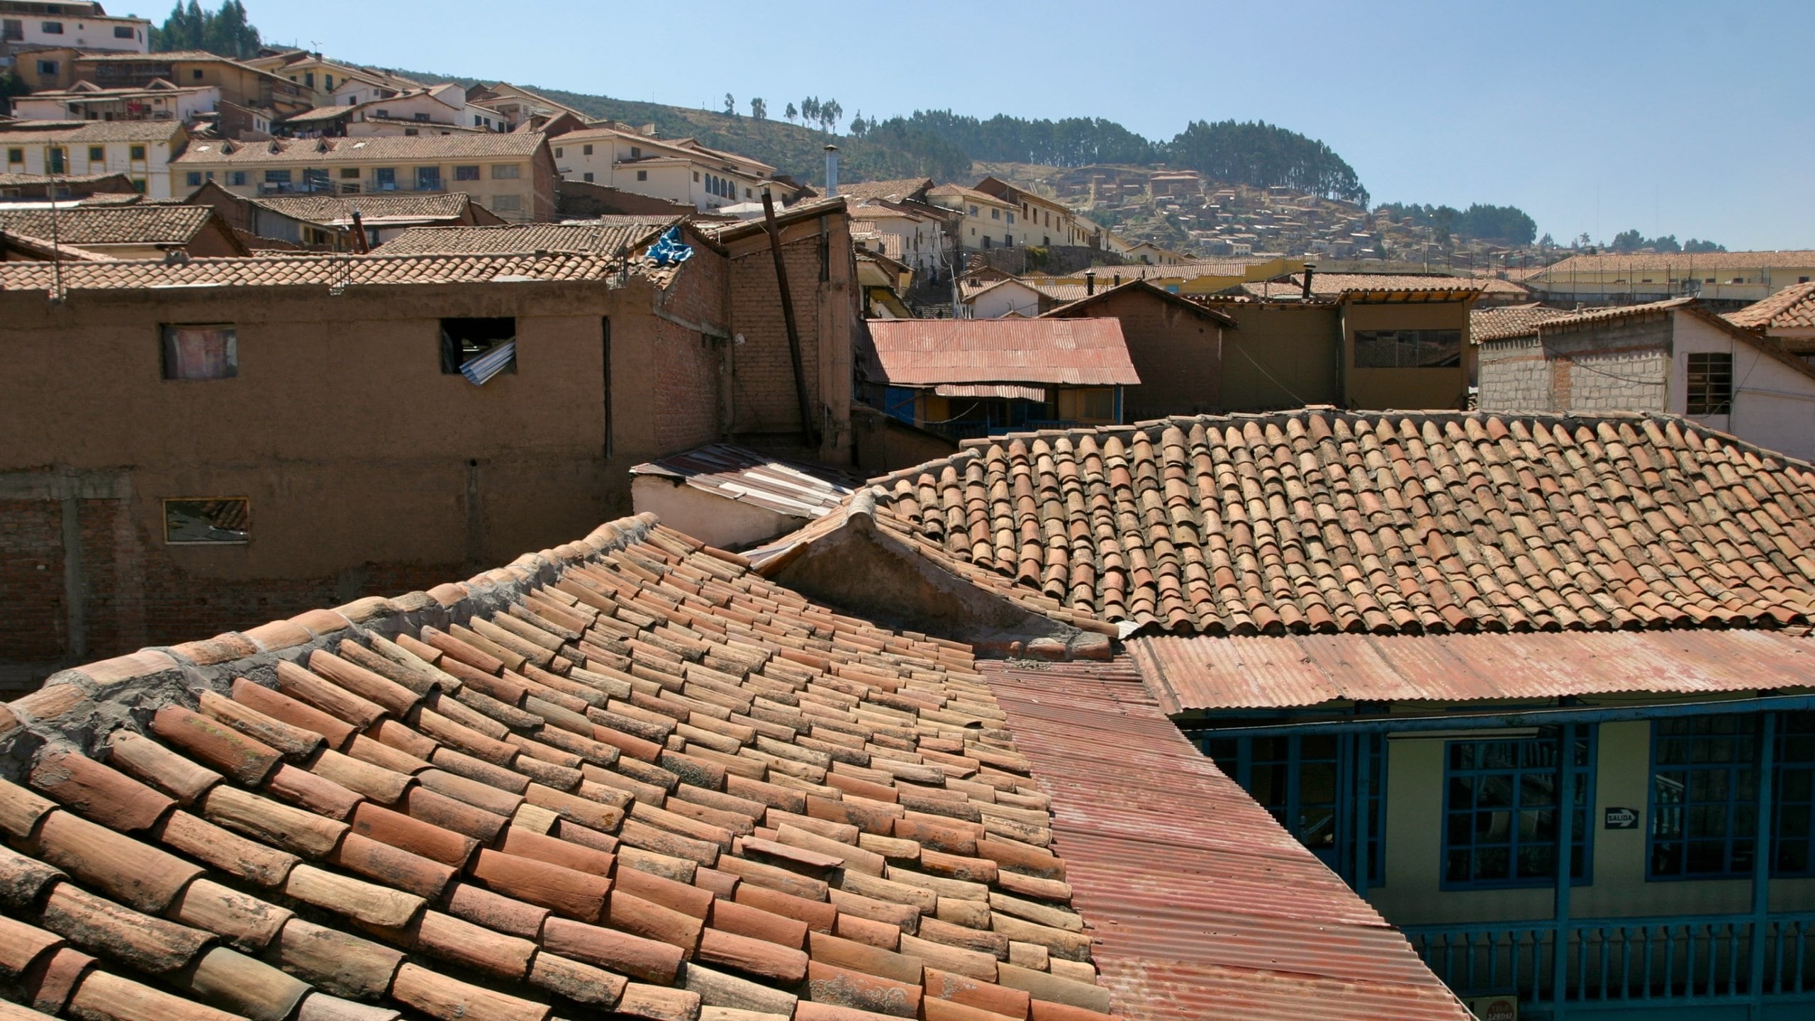
[{"label": "faded red sloping roof of small shed beyond the tile roofs", "polygon": [[882,378],[938,383],[1140,383],[1116,320],[873,320]]}]

